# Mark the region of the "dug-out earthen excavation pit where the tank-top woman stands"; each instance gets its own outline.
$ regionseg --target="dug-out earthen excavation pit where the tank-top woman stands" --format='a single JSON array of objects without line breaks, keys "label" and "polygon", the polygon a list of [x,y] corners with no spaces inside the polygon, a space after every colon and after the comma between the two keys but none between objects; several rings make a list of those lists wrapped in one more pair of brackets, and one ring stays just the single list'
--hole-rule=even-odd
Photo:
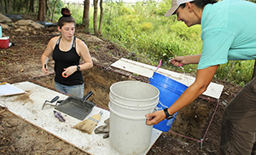
[{"label": "dug-out earthen excavation pit where the tank-top woman stands", "polygon": [[[34,83],[38,83],[49,89],[54,88],[55,74],[33,78]],[[109,88],[113,83],[125,80],[148,82],[148,78],[134,75],[116,69],[107,69],[101,66],[93,66],[90,70],[83,71],[84,95],[93,91],[93,95],[88,100],[96,106],[108,109]],[[197,98],[189,106],[184,107],[177,114],[177,117],[170,129],[165,133],[167,136],[177,138],[181,141],[194,143],[193,139],[201,141],[207,131],[217,102],[208,98]],[[174,134],[173,134],[174,133]],[[184,135],[184,136],[180,136]],[[156,141],[157,142],[157,141]]]}]

